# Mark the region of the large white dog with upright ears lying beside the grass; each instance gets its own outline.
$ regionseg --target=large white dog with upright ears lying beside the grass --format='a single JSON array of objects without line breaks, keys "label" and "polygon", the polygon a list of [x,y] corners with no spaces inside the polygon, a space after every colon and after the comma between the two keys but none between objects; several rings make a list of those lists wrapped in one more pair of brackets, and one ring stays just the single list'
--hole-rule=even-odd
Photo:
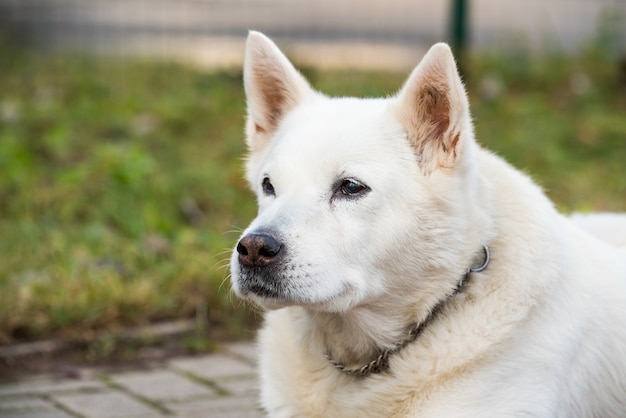
[{"label": "large white dog with upright ears lying beside the grass", "polygon": [[231,269],[270,310],[270,416],[626,416],[626,248],[476,144],[447,46],[390,99],[324,97],[258,33],[244,77],[259,214]]}]

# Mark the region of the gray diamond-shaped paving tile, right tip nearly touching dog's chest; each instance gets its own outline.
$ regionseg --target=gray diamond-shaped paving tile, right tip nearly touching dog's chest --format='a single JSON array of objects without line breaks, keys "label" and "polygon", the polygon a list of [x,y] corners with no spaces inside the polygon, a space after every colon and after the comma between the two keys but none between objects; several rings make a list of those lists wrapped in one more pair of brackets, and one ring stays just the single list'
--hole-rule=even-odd
[{"label": "gray diamond-shaped paving tile, right tip nearly touching dog's chest", "polygon": [[170,367],[215,381],[218,378],[253,376],[255,369],[241,360],[226,354],[180,358],[170,361]]}]

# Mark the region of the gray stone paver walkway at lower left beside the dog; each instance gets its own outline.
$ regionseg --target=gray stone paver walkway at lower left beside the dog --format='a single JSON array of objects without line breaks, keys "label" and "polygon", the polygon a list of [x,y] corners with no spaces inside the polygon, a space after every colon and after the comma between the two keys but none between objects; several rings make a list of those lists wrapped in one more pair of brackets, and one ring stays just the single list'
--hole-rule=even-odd
[{"label": "gray stone paver walkway at lower left beside the dog", "polygon": [[0,385],[0,418],[262,417],[251,343],[159,368]]}]

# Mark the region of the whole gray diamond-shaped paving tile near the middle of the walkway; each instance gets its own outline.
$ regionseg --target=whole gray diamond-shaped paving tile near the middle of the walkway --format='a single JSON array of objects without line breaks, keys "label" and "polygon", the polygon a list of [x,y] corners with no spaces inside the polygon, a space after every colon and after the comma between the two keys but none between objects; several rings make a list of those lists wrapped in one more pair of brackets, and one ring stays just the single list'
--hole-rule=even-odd
[{"label": "whole gray diamond-shaped paving tile near the middle of the walkway", "polygon": [[211,388],[168,370],[115,374],[111,380],[133,393],[155,400],[184,400],[211,397]]}]

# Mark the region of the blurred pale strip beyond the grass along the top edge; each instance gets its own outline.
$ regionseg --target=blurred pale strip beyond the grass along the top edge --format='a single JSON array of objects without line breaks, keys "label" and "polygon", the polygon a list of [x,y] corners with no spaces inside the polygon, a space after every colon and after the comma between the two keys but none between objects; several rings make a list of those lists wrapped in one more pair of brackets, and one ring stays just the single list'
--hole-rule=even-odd
[{"label": "blurred pale strip beyond the grass along the top edge", "polygon": [[406,69],[454,36],[454,19],[474,50],[575,52],[611,25],[623,41],[624,9],[623,0],[2,0],[0,22],[47,51],[230,67],[255,29],[316,67]]}]

